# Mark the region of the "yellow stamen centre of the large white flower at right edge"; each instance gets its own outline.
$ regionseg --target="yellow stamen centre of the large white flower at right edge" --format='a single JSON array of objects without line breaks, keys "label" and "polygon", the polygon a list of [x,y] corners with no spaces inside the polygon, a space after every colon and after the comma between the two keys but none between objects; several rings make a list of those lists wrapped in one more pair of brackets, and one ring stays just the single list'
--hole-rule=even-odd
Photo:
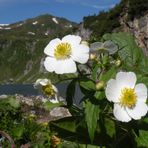
[{"label": "yellow stamen centre of the large white flower at right edge", "polygon": [[133,108],[136,104],[137,96],[132,88],[124,88],[121,90],[120,104],[124,107]]}]

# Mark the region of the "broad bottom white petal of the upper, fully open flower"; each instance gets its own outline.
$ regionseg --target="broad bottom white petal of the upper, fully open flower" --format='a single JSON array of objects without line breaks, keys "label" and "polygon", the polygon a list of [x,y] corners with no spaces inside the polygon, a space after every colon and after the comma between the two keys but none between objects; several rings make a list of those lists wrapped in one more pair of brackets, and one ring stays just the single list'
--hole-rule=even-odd
[{"label": "broad bottom white petal of the upper, fully open flower", "polygon": [[76,64],[71,58],[65,60],[56,60],[55,73],[75,73],[76,71]]}]

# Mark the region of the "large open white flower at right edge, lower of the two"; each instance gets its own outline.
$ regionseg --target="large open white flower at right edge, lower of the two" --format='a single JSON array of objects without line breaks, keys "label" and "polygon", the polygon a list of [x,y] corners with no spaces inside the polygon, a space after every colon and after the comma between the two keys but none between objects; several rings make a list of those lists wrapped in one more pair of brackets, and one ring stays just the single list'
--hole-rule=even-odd
[{"label": "large open white flower at right edge, lower of the two", "polygon": [[147,114],[147,88],[143,83],[136,84],[136,80],[133,72],[118,72],[116,79],[107,83],[106,97],[114,102],[113,114],[119,121],[138,120]]}]

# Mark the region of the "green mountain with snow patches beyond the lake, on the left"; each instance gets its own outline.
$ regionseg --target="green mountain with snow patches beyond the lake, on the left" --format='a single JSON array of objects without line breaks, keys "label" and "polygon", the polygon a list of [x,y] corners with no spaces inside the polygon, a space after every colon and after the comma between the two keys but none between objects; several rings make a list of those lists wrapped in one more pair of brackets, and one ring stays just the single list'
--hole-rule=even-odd
[{"label": "green mountain with snow patches beyond the lake, on the left", "polygon": [[75,26],[65,18],[48,14],[0,24],[0,82],[31,83],[45,76],[45,46],[51,39],[73,32]]}]

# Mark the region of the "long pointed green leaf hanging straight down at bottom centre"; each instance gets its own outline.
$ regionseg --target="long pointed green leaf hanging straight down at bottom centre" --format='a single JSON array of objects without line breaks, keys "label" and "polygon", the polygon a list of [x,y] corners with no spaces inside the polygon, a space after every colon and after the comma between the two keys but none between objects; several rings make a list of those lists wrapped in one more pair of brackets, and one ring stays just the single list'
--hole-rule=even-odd
[{"label": "long pointed green leaf hanging straight down at bottom centre", "polygon": [[84,104],[85,106],[85,120],[88,127],[88,133],[91,142],[94,140],[94,134],[97,127],[97,121],[99,119],[99,106],[93,104],[89,100],[87,100]]}]

